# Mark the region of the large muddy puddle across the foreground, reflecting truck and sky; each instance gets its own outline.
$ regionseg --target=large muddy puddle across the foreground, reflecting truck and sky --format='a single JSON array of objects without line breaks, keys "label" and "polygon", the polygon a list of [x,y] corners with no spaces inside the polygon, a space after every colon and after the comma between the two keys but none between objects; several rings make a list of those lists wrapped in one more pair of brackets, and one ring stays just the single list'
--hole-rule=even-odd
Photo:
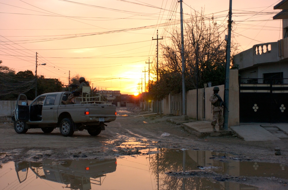
[{"label": "large muddy puddle across the foreground, reflecting truck and sky", "polygon": [[[134,142],[126,142],[125,145],[145,146]],[[147,153],[114,159],[8,162],[0,169],[0,189],[252,190],[257,188],[217,181],[215,173],[219,176],[228,174],[288,179],[288,168],[281,163],[241,161],[236,155],[198,150],[147,149]],[[222,158],[225,161],[221,161]],[[191,170],[202,172],[202,175],[179,175],[182,171]],[[215,172],[212,173],[214,177],[205,176],[204,170]],[[168,174],[170,171],[175,171],[173,176]]]}]

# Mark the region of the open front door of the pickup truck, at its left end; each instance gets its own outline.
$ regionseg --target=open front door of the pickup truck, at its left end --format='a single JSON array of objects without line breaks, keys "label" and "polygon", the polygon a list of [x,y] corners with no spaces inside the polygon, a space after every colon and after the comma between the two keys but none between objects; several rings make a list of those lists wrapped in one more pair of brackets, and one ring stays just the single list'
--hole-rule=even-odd
[{"label": "open front door of the pickup truck, at its left end", "polygon": [[29,121],[30,108],[25,94],[19,94],[15,109],[16,121]]}]

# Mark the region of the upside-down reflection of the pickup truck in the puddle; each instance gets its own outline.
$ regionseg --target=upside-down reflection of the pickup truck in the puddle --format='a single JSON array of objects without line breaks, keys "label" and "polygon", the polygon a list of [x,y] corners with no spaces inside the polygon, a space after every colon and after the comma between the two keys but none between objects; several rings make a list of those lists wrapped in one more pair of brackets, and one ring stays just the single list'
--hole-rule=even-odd
[{"label": "upside-down reflection of the pickup truck in the puddle", "polygon": [[70,184],[70,189],[88,190],[91,189],[91,184],[102,185],[106,174],[115,172],[116,166],[115,158],[61,161],[49,159],[43,162],[16,162],[15,170],[20,183],[27,179],[30,168],[40,179],[63,183],[66,187]]}]

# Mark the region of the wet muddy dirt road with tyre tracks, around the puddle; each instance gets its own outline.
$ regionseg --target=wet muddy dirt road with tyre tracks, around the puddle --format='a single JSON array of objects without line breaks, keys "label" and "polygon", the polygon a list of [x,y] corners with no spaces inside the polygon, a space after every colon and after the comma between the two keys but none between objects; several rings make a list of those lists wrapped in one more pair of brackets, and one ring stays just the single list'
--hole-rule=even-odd
[{"label": "wet muddy dirt road with tyre tracks, around the puddle", "polygon": [[[181,125],[167,122],[168,117],[163,115],[143,117],[141,115],[145,115],[147,112],[140,109],[119,108],[117,111],[116,121],[107,123],[106,130],[95,137],[90,136],[86,130],[75,131],[72,137],[63,137],[59,128],[54,129],[52,133],[43,133],[41,129],[29,129],[26,134],[18,134],[14,131],[13,123],[1,123],[0,164],[9,161],[41,161],[48,158],[115,158],[123,155],[142,154],[139,147],[137,150],[133,150],[133,148],[127,149],[127,147],[120,146],[125,142],[134,141],[145,144],[143,149],[210,150],[234,154],[240,161],[250,160],[288,165],[287,139],[261,142],[244,141],[233,135],[199,138],[185,131]],[[170,133],[170,135],[161,137],[163,133]],[[276,147],[281,149],[281,155],[274,154]],[[221,159],[225,161],[230,158]],[[253,185],[259,189],[288,189],[288,180],[286,179],[226,177],[226,180]]]}]

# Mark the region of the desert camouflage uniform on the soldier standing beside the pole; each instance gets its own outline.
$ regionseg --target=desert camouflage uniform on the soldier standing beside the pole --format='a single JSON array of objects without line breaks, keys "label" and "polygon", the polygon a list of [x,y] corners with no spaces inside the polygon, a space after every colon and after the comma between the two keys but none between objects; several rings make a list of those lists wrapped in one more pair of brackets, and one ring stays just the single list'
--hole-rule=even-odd
[{"label": "desert camouflage uniform on the soldier standing beside the pole", "polygon": [[212,103],[212,112],[213,112],[213,121],[211,125],[213,126],[213,131],[215,131],[215,125],[218,121],[219,130],[223,130],[223,106],[220,106],[220,101],[218,101],[218,97],[215,94],[211,94],[210,96],[210,102]]}]

